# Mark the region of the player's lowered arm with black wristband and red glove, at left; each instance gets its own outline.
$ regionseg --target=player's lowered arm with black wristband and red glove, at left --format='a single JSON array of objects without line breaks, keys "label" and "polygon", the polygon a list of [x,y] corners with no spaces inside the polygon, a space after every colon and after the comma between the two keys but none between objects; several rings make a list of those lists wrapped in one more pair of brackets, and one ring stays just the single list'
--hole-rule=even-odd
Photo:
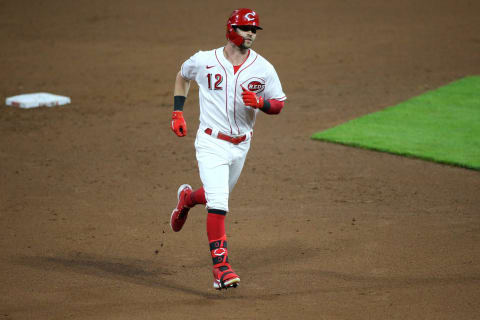
[{"label": "player's lowered arm with black wristband and red glove, at left", "polygon": [[190,80],[182,77],[182,73],[179,71],[175,79],[175,88],[173,90],[173,113],[171,129],[179,137],[187,135],[187,123],[183,118],[183,105],[188,96],[190,90]]}]

